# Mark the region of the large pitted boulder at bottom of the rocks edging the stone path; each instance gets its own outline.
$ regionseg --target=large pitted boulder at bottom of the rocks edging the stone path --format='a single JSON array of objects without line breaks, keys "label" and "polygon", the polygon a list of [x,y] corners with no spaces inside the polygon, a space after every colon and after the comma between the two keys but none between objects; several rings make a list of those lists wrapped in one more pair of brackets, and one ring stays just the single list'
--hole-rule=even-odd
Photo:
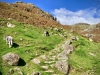
[{"label": "large pitted boulder at bottom of the rocks edging the stone path", "polygon": [[59,60],[56,62],[56,66],[55,66],[59,71],[61,71],[64,74],[68,74],[68,70],[69,70],[69,65],[68,62],[66,60]]}]

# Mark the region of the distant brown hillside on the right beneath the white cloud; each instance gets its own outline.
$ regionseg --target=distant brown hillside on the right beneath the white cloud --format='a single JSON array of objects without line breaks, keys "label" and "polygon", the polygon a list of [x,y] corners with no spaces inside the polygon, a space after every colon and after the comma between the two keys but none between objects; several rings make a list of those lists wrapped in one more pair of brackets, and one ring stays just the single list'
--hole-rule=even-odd
[{"label": "distant brown hillside on the right beneath the white cloud", "polygon": [[91,39],[92,41],[95,42],[100,42],[100,23],[96,25],[78,23],[72,25],[71,30],[78,33],[79,35],[86,37],[87,39]]}]

